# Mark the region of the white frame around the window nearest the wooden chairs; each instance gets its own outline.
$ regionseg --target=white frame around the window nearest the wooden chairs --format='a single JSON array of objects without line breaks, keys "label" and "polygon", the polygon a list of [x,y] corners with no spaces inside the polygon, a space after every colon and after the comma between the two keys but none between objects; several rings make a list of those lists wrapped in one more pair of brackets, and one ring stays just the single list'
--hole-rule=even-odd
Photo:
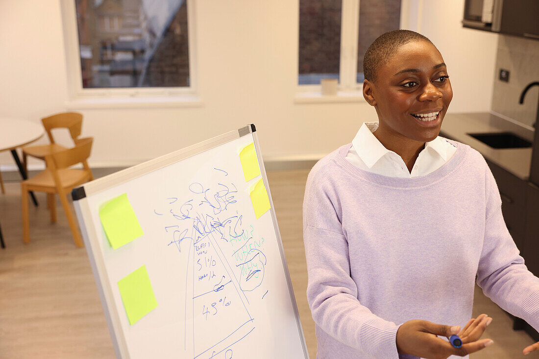
[{"label": "white frame around the window nearest the wooden chairs", "polygon": [[[187,3],[189,86],[83,88],[75,0],[61,0],[69,109],[199,106],[195,0]],[[137,106],[139,105],[139,106]]]}]

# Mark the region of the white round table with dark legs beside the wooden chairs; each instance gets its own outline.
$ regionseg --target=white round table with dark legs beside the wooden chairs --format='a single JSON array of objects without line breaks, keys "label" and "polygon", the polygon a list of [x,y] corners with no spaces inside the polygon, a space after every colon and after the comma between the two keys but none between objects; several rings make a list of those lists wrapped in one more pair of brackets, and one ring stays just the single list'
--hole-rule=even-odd
[{"label": "white round table with dark legs beside the wooden chairs", "polygon": [[[23,179],[28,177],[26,176],[26,171],[24,170],[22,163],[20,163],[16,149],[17,147],[23,147],[39,140],[44,133],[45,131],[40,123],[0,117],[0,152],[11,151],[13,160],[15,160]],[[37,200],[33,193],[31,193],[30,196],[32,197],[34,205],[37,205]],[[2,248],[5,248],[2,230],[0,230],[0,245]]]}]

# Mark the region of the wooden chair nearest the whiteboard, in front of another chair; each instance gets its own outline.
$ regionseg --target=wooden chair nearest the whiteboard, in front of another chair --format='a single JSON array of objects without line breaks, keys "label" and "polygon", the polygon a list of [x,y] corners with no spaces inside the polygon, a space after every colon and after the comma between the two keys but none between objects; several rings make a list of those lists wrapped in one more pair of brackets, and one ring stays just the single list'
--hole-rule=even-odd
[{"label": "wooden chair nearest the whiteboard, in front of another chair", "polygon": [[[78,139],[75,147],[46,155],[46,169],[21,182],[24,243],[29,243],[30,241],[28,192],[41,191],[47,193],[47,202],[51,211],[51,223],[56,222],[56,199],[54,198],[54,194],[58,194],[64,212],[66,213],[67,222],[71,228],[75,245],[82,247],[82,240],[77,229],[77,224],[75,223],[75,218],[71,212],[67,195],[78,185],[94,179],[87,163],[87,158],[92,150],[92,142],[92,137]],[[82,163],[83,168],[69,168],[77,163]]]}]

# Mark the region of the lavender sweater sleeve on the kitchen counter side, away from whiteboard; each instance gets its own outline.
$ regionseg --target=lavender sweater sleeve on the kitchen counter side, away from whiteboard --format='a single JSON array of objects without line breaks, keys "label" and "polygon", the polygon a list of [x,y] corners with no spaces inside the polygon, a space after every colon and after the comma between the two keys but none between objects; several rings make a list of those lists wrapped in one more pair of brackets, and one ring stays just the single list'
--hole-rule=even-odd
[{"label": "lavender sweater sleeve on the kitchen counter side, away from whiteboard", "polygon": [[500,192],[486,168],[485,238],[477,283],[483,293],[507,312],[539,331],[539,278],[528,271],[503,220]]}]

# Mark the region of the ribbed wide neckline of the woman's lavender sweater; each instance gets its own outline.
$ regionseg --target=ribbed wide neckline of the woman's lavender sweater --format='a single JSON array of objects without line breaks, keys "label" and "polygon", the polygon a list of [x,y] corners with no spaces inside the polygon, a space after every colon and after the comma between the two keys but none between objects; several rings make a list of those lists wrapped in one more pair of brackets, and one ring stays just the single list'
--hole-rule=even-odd
[{"label": "ribbed wide neckline of the woman's lavender sweater", "polygon": [[341,168],[350,172],[350,174],[356,177],[360,177],[365,181],[381,185],[383,187],[420,188],[441,181],[441,179],[444,179],[445,177],[450,175],[451,172],[457,169],[457,167],[459,167],[459,165],[466,158],[466,155],[468,154],[468,146],[465,146],[464,144],[459,142],[447,139],[444,140],[450,142],[454,146],[457,146],[457,151],[455,151],[455,154],[451,157],[451,159],[447,161],[442,167],[425,176],[399,178],[378,175],[373,172],[362,170],[346,160],[346,154],[352,146],[351,143],[345,144],[344,146],[341,146],[339,149],[337,149],[334,160]]}]

